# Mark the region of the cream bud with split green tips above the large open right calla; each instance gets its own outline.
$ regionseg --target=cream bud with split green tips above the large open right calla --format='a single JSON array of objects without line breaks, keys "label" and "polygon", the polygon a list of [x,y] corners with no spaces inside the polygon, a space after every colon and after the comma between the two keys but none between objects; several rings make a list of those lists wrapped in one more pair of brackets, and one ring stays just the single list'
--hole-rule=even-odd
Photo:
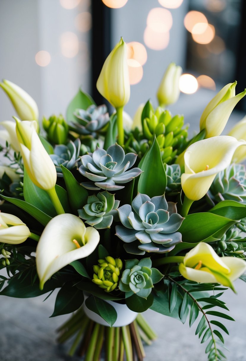
[{"label": "cream bud with split green tips above the large open right calla", "polygon": [[237,82],[229,83],[222,88],[203,110],[200,119],[200,131],[206,129],[206,138],[220,135],[238,101],[246,94],[246,89],[235,95]]}]

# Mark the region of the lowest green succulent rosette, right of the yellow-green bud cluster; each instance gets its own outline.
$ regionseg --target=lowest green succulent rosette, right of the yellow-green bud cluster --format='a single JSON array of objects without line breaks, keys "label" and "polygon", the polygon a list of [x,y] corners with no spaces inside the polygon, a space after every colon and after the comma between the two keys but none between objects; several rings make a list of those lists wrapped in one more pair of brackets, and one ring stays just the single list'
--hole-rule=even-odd
[{"label": "lowest green succulent rosette, right of the yellow-green bud cluster", "polygon": [[127,292],[127,297],[136,293],[137,296],[147,298],[153,284],[159,282],[164,275],[156,268],[151,268],[150,257],[126,260],[126,268],[119,282],[120,291]]}]

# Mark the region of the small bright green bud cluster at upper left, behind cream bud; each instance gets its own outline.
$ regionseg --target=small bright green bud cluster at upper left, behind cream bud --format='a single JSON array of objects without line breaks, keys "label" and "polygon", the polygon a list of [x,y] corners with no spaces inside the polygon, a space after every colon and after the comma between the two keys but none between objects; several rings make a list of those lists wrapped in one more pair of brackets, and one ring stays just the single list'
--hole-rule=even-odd
[{"label": "small bright green bud cluster at upper left, behind cream bud", "polygon": [[52,115],[49,119],[43,117],[43,128],[47,132],[49,142],[53,144],[66,144],[69,127],[60,114]]}]

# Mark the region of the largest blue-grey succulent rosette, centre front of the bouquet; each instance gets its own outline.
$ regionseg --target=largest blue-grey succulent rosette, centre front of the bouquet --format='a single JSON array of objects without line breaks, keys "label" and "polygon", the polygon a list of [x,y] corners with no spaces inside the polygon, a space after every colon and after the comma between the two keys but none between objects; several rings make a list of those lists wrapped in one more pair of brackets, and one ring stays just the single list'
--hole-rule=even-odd
[{"label": "largest blue-grey succulent rosette, centre front of the bouquet", "polygon": [[150,198],[138,193],[132,205],[124,204],[118,213],[123,226],[116,226],[116,235],[126,242],[128,253],[166,253],[182,242],[177,230],[184,218],[177,213],[176,204],[167,202],[164,195]]}]

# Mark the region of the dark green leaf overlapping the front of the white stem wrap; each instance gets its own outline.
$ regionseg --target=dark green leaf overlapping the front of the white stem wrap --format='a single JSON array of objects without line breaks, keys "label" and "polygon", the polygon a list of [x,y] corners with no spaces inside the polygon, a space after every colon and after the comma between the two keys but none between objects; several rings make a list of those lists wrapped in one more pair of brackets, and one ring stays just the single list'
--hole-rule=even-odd
[{"label": "dark green leaf overlapping the front of the white stem wrap", "polygon": [[101,316],[110,327],[112,327],[117,319],[117,312],[108,302],[100,298],[90,296],[85,300],[85,305],[92,312]]}]

